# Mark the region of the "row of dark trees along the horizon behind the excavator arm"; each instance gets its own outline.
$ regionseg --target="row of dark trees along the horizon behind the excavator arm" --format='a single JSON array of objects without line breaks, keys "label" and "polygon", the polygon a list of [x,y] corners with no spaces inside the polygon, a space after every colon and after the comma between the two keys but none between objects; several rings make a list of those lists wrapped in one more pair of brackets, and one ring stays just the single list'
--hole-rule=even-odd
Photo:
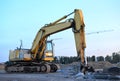
[{"label": "row of dark trees along the horizon behind the excavator arm", "polygon": [[[120,62],[120,54],[119,53],[113,53],[112,56],[107,55],[105,58],[103,56],[98,56],[97,57],[97,61],[108,61],[110,63],[117,63]],[[59,57],[54,57],[54,61],[55,63],[61,63],[61,64],[69,64],[72,62],[78,62],[80,61],[80,57],[76,57],[76,56],[71,56],[71,57],[65,57],[65,56],[59,56]],[[93,55],[92,57],[88,56],[87,57],[87,61],[90,62],[94,62],[96,61],[96,57]]]}]

